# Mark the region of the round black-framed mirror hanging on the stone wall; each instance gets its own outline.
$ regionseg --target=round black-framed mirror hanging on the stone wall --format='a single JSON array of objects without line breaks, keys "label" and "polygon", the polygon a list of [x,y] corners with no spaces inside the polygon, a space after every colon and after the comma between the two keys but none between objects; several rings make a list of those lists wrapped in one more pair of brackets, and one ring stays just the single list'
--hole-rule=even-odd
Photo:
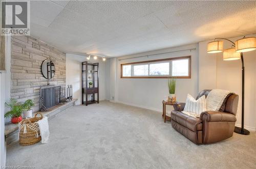
[{"label": "round black-framed mirror hanging on the stone wall", "polygon": [[53,76],[55,74],[55,66],[54,66],[53,62],[49,59],[42,62],[41,72],[45,78],[47,78],[47,79],[53,78]]}]

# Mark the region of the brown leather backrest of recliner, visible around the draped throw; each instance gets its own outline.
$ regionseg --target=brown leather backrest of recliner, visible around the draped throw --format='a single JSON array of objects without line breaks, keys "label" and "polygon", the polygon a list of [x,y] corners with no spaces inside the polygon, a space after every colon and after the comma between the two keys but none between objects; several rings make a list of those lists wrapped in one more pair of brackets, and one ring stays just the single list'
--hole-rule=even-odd
[{"label": "brown leather backrest of recliner, visible around the draped throw", "polygon": [[[201,96],[205,95],[205,98],[208,96],[209,92],[211,90],[202,90],[198,95],[197,99],[199,99]],[[219,111],[224,111],[224,112],[230,112],[233,115],[237,114],[238,110],[238,100],[239,96],[236,94],[230,94],[226,97],[224,102],[221,105],[221,108]]]}]

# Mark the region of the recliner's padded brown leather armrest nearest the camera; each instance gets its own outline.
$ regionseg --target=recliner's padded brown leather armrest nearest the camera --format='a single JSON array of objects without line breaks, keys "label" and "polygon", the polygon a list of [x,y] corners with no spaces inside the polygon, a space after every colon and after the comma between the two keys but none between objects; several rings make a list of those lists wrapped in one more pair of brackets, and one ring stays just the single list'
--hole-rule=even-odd
[{"label": "recliner's padded brown leather armrest nearest the camera", "polygon": [[236,122],[237,118],[229,112],[221,111],[204,111],[200,115],[200,119],[206,122]]}]

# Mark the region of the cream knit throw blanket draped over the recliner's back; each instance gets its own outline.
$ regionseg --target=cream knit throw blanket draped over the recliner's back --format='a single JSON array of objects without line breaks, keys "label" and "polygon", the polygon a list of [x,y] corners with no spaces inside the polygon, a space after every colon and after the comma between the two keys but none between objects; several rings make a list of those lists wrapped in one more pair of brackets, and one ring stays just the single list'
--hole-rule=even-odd
[{"label": "cream knit throw blanket draped over the recliner's back", "polygon": [[221,89],[211,90],[206,97],[206,110],[218,111],[225,98],[231,93],[232,92]]}]

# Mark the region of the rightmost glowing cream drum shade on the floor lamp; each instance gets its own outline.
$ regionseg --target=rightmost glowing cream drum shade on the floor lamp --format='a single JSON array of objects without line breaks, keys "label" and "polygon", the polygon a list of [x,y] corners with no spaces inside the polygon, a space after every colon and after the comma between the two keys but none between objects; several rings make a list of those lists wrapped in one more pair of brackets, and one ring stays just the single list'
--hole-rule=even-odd
[{"label": "rightmost glowing cream drum shade on the floor lamp", "polygon": [[256,37],[239,39],[234,43],[236,44],[236,52],[256,50]]}]

